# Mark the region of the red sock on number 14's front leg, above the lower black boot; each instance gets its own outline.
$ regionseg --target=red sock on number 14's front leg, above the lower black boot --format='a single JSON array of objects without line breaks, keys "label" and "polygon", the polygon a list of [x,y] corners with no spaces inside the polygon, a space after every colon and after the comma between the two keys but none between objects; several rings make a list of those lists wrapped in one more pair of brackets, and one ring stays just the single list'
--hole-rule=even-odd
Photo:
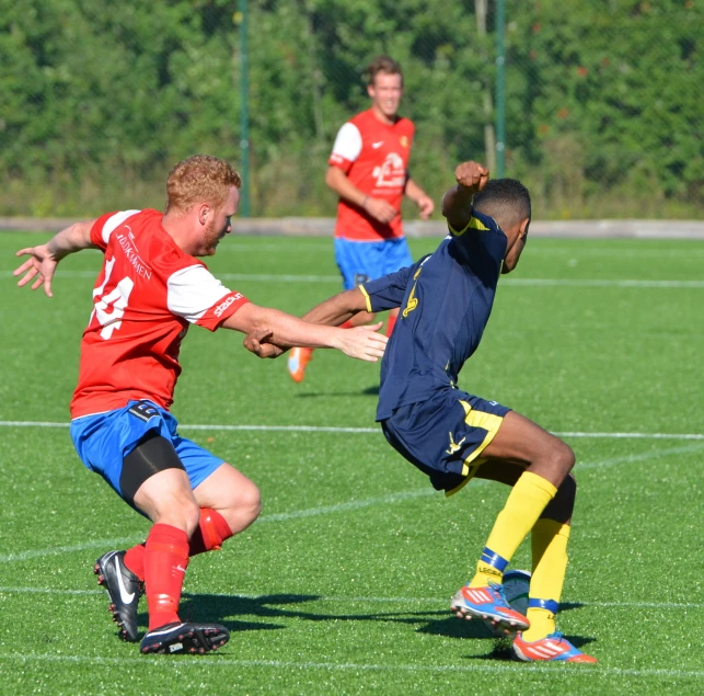
[{"label": "red sock on number 14's front leg, above the lower black boot", "polygon": [[149,630],[177,623],[183,579],[188,567],[188,535],[169,524],[155,524],[145,549],[145,589]]}]

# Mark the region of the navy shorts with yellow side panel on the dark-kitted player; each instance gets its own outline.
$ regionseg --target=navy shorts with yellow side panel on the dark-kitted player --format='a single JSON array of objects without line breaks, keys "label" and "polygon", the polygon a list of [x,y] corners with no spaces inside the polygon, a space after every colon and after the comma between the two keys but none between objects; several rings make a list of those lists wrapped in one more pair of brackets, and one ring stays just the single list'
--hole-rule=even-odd
[{"label": "navy shorts with yellow side panel on the dark-kitted player", "polygon": [[434,488],[451,495],[484,464],[480,455],[509,411],[496,401],[448,389],[400,407],[381,421],[381,429],[399,454],[430,477]]}]

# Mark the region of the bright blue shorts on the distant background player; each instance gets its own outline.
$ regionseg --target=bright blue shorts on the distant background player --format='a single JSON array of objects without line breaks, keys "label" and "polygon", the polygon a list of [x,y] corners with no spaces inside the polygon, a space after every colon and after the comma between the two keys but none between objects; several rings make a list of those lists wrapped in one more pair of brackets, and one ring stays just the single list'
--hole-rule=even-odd
[{"label": "bright blue shorts on the distant background player", "polygon": [[384,241],[335,238],[335,261],[346,290],[413,264],[405,237]]}]

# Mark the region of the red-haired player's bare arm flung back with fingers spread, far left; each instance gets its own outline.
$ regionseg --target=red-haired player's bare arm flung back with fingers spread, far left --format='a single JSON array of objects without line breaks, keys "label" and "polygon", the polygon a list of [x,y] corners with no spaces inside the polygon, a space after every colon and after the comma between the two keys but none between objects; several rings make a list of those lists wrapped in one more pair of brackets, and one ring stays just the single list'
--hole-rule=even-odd
[{"label": "red-haired player's bare arm flung back with fingers spread, far left", "polygon": [[26,285],[33,278],[32,289],[36,290],[44,285],[44,292],[48,297],[54,297],[51,293],[51,278],[59,261],[68,254],[81,251],[82,249],[97,249],[91,242],[91,228],[95,220],[89,223],[74,223],[70,227],[57,232],[46,244],[38,247],[27,247],[20,249],[15,256],[28,255],[30,258],[12,275],[18,276],[25,274],[18,281],[18,286]]}]

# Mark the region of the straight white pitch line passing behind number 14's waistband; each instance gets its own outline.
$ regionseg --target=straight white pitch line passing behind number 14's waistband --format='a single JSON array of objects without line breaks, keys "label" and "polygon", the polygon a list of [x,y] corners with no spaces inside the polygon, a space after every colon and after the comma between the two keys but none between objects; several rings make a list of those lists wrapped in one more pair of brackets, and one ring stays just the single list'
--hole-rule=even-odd
[{"label": "straight white pitch line passing behind number 14's waistband", "polygon": [[[0,427],[68,427],[69,423],[49,421],[0,421]],[[379,433],[379,427],[337,427],[334,425],[227,425],[180,424],[181,430],[232,432],[287,432],[287,433]],[[585,433],[577,431],[554,433],[558,437],[613,437],[616,440],[704,440],[704,433]]]}]

